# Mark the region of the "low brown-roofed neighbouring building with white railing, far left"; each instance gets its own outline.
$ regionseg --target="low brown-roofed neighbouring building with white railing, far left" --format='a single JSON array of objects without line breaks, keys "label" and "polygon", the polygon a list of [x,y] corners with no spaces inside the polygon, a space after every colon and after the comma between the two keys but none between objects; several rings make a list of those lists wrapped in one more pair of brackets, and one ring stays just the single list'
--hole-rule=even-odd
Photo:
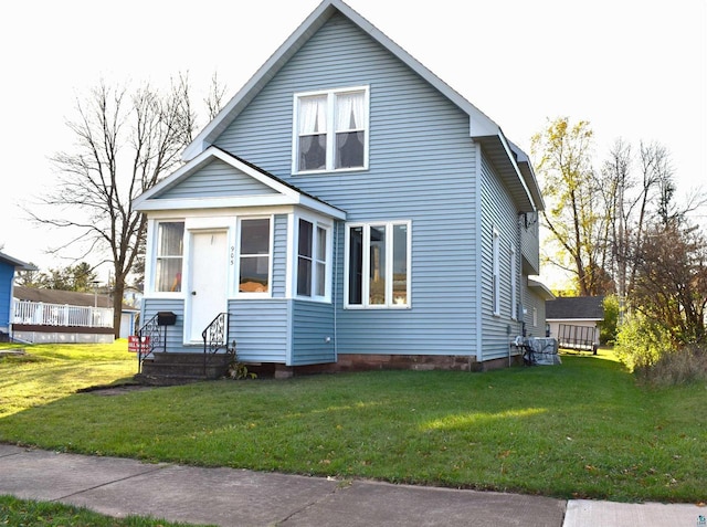
[{"label": "low brown-roofed neighbouring building with white railing, far left", "polygon": [[[13,337],[28,342],[113,342],[113,298],[95,293],[14,287]],[[123,305],[120,338],[139,310]]]}]

